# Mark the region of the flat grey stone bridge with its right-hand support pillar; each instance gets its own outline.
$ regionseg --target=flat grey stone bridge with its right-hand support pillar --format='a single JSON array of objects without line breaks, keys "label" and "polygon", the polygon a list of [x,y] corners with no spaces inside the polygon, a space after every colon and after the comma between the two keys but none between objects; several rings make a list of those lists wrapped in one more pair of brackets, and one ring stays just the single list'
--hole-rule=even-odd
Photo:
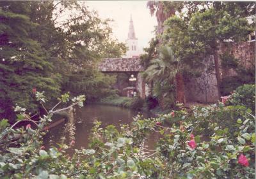
[{"label": "flat grey stone bridge with its right-hand support pillar", "polygon": [[136,90],[141,98],[145,98],[145,82],[140,74],[144,69],[140,64],[139,57],[102,59],[102,62],[99,64],[99,71],[102,73],[133,74],[136,77]]}]

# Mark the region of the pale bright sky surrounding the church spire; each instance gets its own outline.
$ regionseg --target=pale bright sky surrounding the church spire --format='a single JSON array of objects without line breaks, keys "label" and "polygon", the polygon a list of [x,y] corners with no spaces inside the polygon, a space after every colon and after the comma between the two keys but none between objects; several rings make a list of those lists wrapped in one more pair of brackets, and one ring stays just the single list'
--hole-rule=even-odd
[{"label": "pale bright sky surrounding the church spire", "polygon": [[140,51],[148,47],[148,41],[154,37],[157,25],[155,16],[151,16],[147,8],[147,1],[85,1],[90,10],[98,11],[99,17],[111,18],[113,36],[125,43],[127,39],[129,21],[132,15],[136,38]]}]

